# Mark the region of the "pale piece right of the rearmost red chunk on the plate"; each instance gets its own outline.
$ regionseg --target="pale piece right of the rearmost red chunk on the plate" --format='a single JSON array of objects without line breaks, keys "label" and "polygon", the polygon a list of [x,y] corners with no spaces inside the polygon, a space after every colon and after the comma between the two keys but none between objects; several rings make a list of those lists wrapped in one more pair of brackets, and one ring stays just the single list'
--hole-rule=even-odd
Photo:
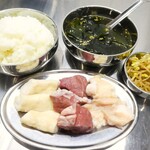
[{"label": "pale piece right of the rearmost red chunk on the plate", "polygon": [[93,99],[116,97],[113,85],[99,75],[90,79],[90,83],[86,87],[86,94]]}]

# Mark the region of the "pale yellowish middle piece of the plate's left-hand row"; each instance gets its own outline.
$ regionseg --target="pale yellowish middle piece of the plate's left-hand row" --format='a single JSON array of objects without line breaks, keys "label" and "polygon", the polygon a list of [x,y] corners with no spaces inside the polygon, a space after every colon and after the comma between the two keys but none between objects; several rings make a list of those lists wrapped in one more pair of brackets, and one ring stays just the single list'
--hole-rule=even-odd
[{"label": "pale yellowish middle piece of the plate's left-hand row", "polygon": [[16,110],[20,112],[53,110],[49,94],[19,94],[15,98],[14,105]]}]

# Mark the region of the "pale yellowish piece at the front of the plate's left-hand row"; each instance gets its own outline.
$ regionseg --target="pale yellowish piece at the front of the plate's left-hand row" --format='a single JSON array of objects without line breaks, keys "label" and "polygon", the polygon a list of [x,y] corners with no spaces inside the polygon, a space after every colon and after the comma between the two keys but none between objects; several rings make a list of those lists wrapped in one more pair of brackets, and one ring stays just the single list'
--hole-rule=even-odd
[{"label": "pale yellowish piece at the front of the plate's left-hand row", "polygon": [[58,117],[59,113],[51,110],[44,112],[31,110],[21,118],[21,123],[40,131],[53,134],[58,132]]}]

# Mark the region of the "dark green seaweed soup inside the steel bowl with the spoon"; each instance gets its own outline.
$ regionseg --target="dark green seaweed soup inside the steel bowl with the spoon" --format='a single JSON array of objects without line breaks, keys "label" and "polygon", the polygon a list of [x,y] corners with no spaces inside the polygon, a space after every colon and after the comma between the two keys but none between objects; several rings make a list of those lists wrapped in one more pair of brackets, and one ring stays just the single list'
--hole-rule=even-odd
[{"label": "dark green seaweed soup inside the steel bowl with the spoon", "polygon": [[77,17],[66,24],[65,34],[76,46],[94,54],[111,55],[130,49],[129,31],[120,25],[108,30],[105,25],[110,21],[98,15]]}]

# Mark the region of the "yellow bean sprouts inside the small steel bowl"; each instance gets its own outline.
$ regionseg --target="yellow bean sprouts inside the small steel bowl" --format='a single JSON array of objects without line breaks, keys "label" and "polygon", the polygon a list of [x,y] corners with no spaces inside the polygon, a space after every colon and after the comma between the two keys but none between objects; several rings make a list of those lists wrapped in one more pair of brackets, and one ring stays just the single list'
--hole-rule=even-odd
[{"label": "yellow bean sprouts inside the small steel bowl", "polygon": [[127,74],[140,89],[150,92],[150,53],[131,56],[126,63]]}]

